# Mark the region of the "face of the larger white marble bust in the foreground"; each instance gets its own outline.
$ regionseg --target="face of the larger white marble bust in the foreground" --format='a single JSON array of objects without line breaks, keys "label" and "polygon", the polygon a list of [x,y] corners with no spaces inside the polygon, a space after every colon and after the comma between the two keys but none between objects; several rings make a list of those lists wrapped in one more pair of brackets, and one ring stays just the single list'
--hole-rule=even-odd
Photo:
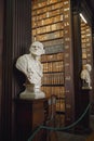
[{"label": "face of the larger white marble bust in the foreground", "polygon": [[42,49],[39,46],[31,46],[30,52],[33,55],[40,56],[42,54]]}]

